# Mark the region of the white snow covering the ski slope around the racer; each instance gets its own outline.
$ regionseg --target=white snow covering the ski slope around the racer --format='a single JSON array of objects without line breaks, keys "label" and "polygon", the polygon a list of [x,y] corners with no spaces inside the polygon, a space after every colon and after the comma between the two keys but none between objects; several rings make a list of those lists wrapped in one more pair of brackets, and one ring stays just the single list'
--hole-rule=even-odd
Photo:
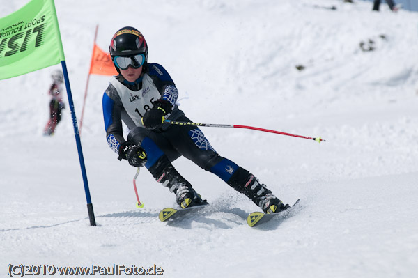
[{"label": "white snow covering the ski slope around the racer", "polygon": [[[0,16],[27,0],[6,1]],[[323,7],[336,6],[336,10]],[[371,3],[281,1],[56,1],[77,118],[93,36],[107,49],[135,26],[148,61],[161,63],[180,108],[210,143],[254,173],[281,200],[301,199],[290,219],[251,229],[258,208],[185,158],[173,164],[210,207],[173,223],[157,219],[174,196],[146,169],[107,146],[102,93],[92,75],[82,147],[98,226],[89,226],[84,184],[65,109],[43,137],[54,68],[1,80],[0,277],[9,264],[157,265],[163,277],[414,277],[418,270],[418,17]],[[382,38],[381,35],[384,35]],[[373,40],[376,49],[359,44]],[[304,65],[302,71],[296,65]],[[58,275],[56,275],[58,276]]]}]

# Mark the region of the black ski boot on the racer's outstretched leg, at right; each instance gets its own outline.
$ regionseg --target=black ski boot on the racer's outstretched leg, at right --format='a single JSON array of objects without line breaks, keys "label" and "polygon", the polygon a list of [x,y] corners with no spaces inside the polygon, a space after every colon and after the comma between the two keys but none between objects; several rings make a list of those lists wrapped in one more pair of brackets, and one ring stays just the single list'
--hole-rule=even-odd
[{"label": "black ski boot on the racer's outstretched leg, at right", "polygon": [[258,178],[241,167],[235,171],[228,184],[238,192],[245,194],[264,213],[279,213],[289,206],[284,205],[265,185],[258,183]]}]

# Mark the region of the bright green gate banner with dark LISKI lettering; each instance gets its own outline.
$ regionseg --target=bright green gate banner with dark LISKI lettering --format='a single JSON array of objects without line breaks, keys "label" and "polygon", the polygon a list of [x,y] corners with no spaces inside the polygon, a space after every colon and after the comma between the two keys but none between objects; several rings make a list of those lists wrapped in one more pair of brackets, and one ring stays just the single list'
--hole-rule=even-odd
[{"label": "bright green gate banner with dark LISKI lettering", "polygon": [[0,18],[0,79],[65,61],[54,0],[31,0]]}]

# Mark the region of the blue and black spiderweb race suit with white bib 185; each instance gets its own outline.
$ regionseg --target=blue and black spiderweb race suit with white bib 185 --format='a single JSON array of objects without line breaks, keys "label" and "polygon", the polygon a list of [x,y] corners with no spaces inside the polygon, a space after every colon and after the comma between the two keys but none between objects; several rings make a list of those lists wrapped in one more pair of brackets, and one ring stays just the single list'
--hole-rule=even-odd
[{"label": "blue and black spiderweb race suit with white bib 185", "polygon": [[[109,147],[118,153],[121,144],[125,142],[123,121],[130,129],[127,141],[141,145],[146,151],[148,160],[145,166],[151,173],[155,164],[162,158],[172,162],[183,155],[228,183],[240,167],[218,155],[199,128],[167,123],[156,130],[144,128],[141,117],[158,99],[169,101],[173,107],[166,118],[190,121],[183,111],[178,109],[178,90],[162,65],[146,64],[143,75],[133,83],[127,82],[121,75],[112,77],[103,95],[104,128]],[[155,175],[156,173],[153,173],[153,176]]]}]

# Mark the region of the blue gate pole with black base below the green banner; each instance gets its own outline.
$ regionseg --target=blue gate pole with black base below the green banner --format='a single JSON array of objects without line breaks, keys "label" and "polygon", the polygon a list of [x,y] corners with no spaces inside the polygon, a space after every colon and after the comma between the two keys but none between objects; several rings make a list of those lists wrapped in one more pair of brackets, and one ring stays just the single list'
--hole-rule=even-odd
[{"label": "blue gate pole with black base below the green banner", "polygon": [[66,65],[65,61],[61,61],[61,65],[63,67],[65,87],[67,88],[68,105],[70,105],[70,110],[71,110],[72,126],[74,127],[75,142],[77,144],[80,166],[82,167],[84,191],[86,192],[86,199],[87,199],[88,218],[90,219],[90,225],[91,226],[96,226],[95,218],[94,218],[94,211],[93,211],[93,204],[91,203],[90,190],[88,189],[86,166],[84,165],[82,141],[80,140],[80,134],[79,134],[78,126],[77,126],[77,118],[75,117],[74,102],[72,101],[70,80],[68,79],[67,65]]}]

